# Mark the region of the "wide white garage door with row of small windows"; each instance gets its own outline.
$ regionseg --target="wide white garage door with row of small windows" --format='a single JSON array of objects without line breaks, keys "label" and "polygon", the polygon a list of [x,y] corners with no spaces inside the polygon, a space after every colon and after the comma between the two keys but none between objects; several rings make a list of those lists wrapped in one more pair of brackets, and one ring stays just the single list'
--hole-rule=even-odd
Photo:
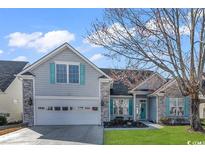
[{"label": "wide white garage door with row of small windows", "polygon": [[36,125],[99,125],[100,105],[97,100],[36,99]]}]

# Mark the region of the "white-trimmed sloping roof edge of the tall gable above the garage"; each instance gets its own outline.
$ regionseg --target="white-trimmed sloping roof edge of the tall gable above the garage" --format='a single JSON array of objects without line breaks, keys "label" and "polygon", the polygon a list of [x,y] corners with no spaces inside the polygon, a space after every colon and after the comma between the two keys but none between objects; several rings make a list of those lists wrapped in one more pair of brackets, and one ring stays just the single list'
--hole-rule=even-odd
[{"label": "white-trimmed sloping roof edge of the tall gable above the garage", "polygon": [[87,59],[85,56],[83,56],[81,53],[79,53],[75,48],[73,48],[67,42],[65,42],[64,44],[60,45],[59,47],[57,47],[53,51],[49,52],[47,55],[43,56],[42,58],[40,58],[39,60],[37,60],[36,62],[31,64],[30,66],[28,66],[27,68],[25,68],[22,72],[19,73],[19,75],[23,75],[24,73],[29,72],[29,70],[31,70],[33,68],[36,68],[37,66],[41,65],[44,61],[48,60],[49,58],[51,58],[51,57],[55,56],[56,54],[58,54],[59,52],[61,52],[62,49],[64,49],[64,48],[70,49],[73,53],[75,53],[80,58],[82,58],[84,61],[86,61],[88,64],[90,64],[95,70],[97,70],[103,76],[105,76],[106,78],[111,80],[111,78],[107,74],[105,74],[95,64],[93,64],[89,59]]}]

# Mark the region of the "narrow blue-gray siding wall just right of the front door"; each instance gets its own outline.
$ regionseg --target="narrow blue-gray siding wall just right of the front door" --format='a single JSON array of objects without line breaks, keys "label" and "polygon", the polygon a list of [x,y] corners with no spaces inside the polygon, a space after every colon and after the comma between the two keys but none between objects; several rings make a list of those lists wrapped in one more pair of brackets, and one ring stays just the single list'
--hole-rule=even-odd
[{"label": "narrow blue-gray siding wall just right of the front door", "polygon": [[150,121],[156,122],[157,120],[157,106],[156,106],[156,97],[149,98],[148,105],[148,118]]}]

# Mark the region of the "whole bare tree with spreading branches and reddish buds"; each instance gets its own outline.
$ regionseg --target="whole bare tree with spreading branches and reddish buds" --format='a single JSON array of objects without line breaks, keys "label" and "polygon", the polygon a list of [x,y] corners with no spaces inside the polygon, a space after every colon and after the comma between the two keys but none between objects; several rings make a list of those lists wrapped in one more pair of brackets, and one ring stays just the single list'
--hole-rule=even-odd
[{"label": "whole bare tree with spreading branches and reddish buds", "polygon": [[176,79],[191,97],[191,128],[202,131],[199,95],[205,95],[205,9],[106,9],[88,41],[132,65],[157,67]]}]

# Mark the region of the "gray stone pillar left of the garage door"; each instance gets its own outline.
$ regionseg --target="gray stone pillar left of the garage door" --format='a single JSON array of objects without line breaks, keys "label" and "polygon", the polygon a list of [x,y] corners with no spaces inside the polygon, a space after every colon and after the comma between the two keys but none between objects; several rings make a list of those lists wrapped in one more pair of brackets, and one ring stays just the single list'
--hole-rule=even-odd
[{"label": "gray stone pillar left of the garage door", "polygon": [[23,79],[23,122],[34,124],[33,80]]}]

